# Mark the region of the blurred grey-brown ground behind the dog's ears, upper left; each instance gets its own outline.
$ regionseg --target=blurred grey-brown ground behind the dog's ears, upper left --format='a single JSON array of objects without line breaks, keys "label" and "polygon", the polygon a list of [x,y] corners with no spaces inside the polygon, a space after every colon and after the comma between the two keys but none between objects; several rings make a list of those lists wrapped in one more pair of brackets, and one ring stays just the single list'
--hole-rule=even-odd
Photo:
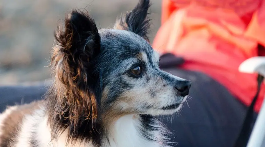
[{"label": "blurred grey-brown ground behind the dog's ears, upper left", "polygon": [[[112,27],[121,13],[138,0],[1,0],[0,85],[44,81],[50,78],[49,52],[57,24],[72,8],[85,8],[100,28]],[[161,0],[150,9],[150,41],[160,26]]]}]

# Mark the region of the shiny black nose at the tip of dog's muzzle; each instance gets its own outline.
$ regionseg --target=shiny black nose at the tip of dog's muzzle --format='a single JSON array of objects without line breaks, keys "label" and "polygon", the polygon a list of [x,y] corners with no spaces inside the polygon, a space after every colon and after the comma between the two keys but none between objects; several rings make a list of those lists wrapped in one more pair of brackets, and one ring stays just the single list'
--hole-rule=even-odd
[{"label": "shiny black nose at the tip of dog's muzzle", "polygon": [[191,82],[188,80],[177,81],[175,88],[178,90],[181,96],[187,96],[191,88]]}]

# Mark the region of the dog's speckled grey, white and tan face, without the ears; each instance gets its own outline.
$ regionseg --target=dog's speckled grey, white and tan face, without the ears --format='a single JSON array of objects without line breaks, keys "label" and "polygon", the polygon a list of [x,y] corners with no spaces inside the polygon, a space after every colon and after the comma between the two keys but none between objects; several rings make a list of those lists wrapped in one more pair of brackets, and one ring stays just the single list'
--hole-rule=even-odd
[{"label": "dog's speckled grey, white and tan face, without the ears", "polygon": [[189,81],[159,69],[159,55],[143,37],[125,30],[100,30],[103,110],[170,114],[185,101]]}]

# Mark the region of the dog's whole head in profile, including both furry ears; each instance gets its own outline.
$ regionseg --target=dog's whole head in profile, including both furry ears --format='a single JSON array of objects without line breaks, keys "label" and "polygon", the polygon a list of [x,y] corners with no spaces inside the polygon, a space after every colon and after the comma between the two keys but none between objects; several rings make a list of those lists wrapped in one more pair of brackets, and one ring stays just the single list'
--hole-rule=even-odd
[{"label": "dog's whole head in profile, including both furry ears", "polygon": [[[98,30],[93,19],[73,10],[56,34],[52,52],[53,95],[49,108],[67,124],[78,125],[125,114],[171,114],[191,83],[159,69],[159,55],[148,41],[149,0]],[[54,113],[55,111],[55,113]]]}]

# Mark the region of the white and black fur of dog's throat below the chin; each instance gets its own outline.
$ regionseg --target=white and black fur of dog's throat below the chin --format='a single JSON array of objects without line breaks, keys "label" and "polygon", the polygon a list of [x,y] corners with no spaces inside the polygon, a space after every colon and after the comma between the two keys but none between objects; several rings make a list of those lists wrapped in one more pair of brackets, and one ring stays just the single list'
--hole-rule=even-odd
[{"label": "white and black fur of dog's throat below the chin", "polygon": [[[102,142],[103,146],[111,147],[122,147],[122,146],[138,146],[138,147],[161,147],[163,146],[163,134],[159,131],[162,130],[152,130],[151,128],[146,128],[142,117],[139,115],[126,115],[119,118],[114,122],[112,128],[108,131],[108,141],[104,140]],[[146,116],[150,117],[150,116]],[[149,119],[149,118],[148,118]],[[154,119],[154,121],[157,121]],[[155,125],[155,122],[151,122]],[[159,125],[159,124],[156,124]],[[155,126],[153,126],[155,127]],[[159,129],[161,126],[157,126]],[[106,138],[104,138],[106,139]]]}]

